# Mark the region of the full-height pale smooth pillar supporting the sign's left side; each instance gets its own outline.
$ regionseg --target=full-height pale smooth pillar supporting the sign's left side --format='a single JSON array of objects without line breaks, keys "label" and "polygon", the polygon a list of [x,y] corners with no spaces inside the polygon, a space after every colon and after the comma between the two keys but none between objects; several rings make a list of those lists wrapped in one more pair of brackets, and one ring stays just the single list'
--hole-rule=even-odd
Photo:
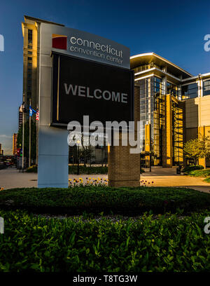
[{"label": "full-height pale smooth pillar supporting the sign's left side", "polygon": [[38,104],[38,188],[67,188],[69,183],[68,131],[50,126],[51,75],[50,50],[46,53],[41,42]]}]

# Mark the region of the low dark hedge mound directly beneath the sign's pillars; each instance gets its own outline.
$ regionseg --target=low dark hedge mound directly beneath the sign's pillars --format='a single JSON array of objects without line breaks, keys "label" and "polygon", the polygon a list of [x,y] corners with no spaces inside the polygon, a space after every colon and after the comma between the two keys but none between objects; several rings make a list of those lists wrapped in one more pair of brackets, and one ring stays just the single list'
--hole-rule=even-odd
[{"label": "low dark hedge mound directly beneath the sign's pillars", "polygon": [[210,206],[210,194],[176,187],[76,186],[69,189],[10,189],[0,192],[0,207],[36,212],[185,212]]}]

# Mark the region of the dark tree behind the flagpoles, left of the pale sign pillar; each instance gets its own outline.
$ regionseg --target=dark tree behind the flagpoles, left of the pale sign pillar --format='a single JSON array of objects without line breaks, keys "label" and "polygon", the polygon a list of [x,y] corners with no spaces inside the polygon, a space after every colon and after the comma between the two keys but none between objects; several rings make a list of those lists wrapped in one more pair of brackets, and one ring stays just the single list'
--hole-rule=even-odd
[{"label": "dark tree behind the flagpoles, left of the pale sign pillar", "polygon": [[[25,123],[24,156],[29,158],[29,121]],[[22,147],[22,125],[18,130],[17,147]],[[31,120],[31,159],[36,160],[36,123]]]}]

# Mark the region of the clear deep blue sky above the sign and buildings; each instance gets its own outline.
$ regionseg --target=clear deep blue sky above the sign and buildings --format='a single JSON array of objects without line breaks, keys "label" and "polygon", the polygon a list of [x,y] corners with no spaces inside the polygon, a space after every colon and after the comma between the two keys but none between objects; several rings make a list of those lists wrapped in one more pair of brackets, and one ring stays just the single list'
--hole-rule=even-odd
[{"label": "clear deep blue sky above the sign and buildings", "polygon": [[0,34],[0,143],[6,154],[18,131],[22,102],[23,15],[59,22],[104,36],[130,47],[131,55],[155,52],[191,74],[210,71],[210,52],[204,35],[210,34],[209,0],[193,1],[3,1]]}]

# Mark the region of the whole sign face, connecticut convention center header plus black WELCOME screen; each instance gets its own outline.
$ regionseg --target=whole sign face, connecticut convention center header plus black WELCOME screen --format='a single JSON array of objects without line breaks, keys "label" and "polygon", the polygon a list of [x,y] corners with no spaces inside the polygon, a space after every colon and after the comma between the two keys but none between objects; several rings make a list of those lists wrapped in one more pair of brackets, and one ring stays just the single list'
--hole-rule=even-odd
[{"label": "whole sign face, connecticut convention center header plus black WELCOME screen", "polygon": [[52,57],[51,125],[82,125],[84,115],[90,122],[133,121],[130,49],[77,29],[45,24],[41,29],[42,53],[51,50]]}]

